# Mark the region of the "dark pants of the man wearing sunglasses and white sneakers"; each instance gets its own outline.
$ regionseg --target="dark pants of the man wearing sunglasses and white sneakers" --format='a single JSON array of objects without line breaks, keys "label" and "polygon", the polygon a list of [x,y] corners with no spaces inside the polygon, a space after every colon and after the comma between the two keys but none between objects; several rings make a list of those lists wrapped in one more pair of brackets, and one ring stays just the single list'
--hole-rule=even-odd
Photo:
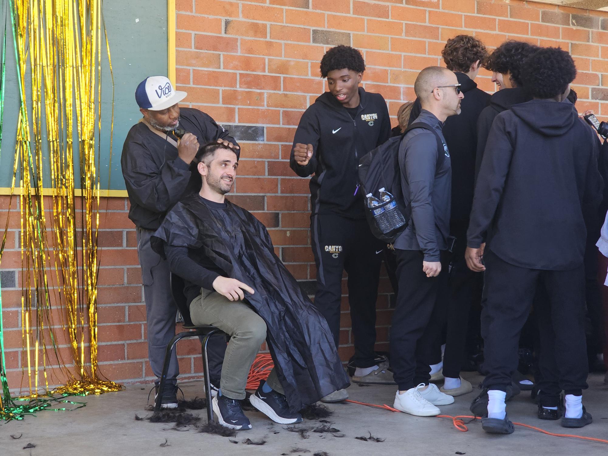
[{"label": "dark pants of the man wearing sunglasses and white sneakers", "polygon": [[390,364],[399,390],[430,380],[429,359],[445,322],[447,255],[441,272],[426,277],[420,250],[395,249],[399,292],[390,328]]}]

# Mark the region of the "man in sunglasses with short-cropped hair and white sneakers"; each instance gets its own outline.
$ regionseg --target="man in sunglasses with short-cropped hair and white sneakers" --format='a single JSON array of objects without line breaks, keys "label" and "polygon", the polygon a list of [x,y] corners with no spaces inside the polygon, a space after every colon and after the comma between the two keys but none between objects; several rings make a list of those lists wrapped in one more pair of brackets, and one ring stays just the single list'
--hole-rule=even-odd
[{"label": "man in sunglasses with short-cropped hair and white sneakers", "polygon": [[[443,313],[440,297],[447,278],[452,170],[441,129],[449,116],[460,114],[464,95],[456,75],[427,67],[414,84],[422,111],[399,146],[401,190],[410,209],[409,223],[395,240],[399,291],[390,330],[393,375],[398,384],[394,407],[418,416],[435,416],[439,405],[454,402],[429,384],[426,347],[438,337],[429,325]],[[414,126],[420,128],[413,128]]]}]

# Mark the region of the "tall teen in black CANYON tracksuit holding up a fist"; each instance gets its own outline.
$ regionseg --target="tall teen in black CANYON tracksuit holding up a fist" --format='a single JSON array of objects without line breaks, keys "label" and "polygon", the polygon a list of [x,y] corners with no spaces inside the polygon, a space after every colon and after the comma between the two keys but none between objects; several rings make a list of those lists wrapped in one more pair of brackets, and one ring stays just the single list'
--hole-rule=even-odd
[{"label": "tall teen in black CANYON tracksuit holding up a fist", "polygon": [[[304,112],[295,131],[290,165],[310,179],[311,244],[317,265],[314,303],[325,316],[336,347],[340,341],[342,274],[348,273],[348,302],[354,337],[353,381],[392,383],[376,365],[376,299],[383,244],[371,234],[359,190],[359,159],[390,136],[382,95],[358,87],[365,63],[350,46],[336,46],[321,60],[329,92]],[[345,391],[326,401],[346,399]]]}]

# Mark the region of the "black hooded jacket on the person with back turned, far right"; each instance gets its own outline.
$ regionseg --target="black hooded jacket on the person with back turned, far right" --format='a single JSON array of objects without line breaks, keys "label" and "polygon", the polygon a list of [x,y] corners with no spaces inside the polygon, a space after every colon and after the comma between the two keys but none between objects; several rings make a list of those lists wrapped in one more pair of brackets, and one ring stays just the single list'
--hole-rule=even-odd
[{"label": "black hooded jacket on the person with back turned, far right", "polygon": [[496,116],[475,185],[468,246],[507,263],[567,271],[582,264],[586,218],[601,199],[593,131],[567,100],[531,100]]}]

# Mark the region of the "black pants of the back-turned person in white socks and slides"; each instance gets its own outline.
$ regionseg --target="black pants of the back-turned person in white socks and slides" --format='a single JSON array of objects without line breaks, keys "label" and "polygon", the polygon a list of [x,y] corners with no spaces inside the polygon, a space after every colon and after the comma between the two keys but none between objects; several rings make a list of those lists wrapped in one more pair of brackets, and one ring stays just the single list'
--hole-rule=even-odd
[{"label": "black pants of the back-turned person in white socks and slides", "polygon": [[[541,336],[540,368],[548,393],[580,395],[587,389],[585,342],[585,276],[581,264],[570,271],[545,271],[514,266],[486,249],[482,333],[485,339],[483,385],[506,391],[517,369],[519,335],[536,294],[542,285],[547,299],[534,300]],[[551,356],[553,355],[553,356]],[[559,389],[559,390],[558,390]]]}]

